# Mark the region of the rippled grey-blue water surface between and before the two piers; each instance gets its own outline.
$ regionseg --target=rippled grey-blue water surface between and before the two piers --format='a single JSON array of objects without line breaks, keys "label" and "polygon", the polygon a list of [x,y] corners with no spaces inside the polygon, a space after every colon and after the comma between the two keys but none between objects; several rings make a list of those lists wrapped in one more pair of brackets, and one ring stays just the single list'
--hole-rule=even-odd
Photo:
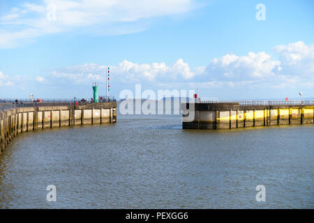
[{"label": "rippled grey-blue water surface between and before the two piers", "polygon": [[0,208],[314,208],[313,133],[182,130],[179,115],[27,132],[0,155]]}]

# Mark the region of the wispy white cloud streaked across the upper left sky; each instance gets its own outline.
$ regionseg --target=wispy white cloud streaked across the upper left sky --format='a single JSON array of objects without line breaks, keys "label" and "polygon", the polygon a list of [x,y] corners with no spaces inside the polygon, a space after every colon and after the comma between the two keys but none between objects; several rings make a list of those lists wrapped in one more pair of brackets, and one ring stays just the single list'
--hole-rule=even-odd
[{"label": "wispy white cloud streaked across the upper left sky", "polygon": [[[56,20],[49,20],[54,8]],[[16,47],[49,33],[83,27],[91,28],[89,33],[102,35],[134,33],[146,29],[146,22],[153,17],[186,13],[194,8],[192,0],[133,0],[132,3],[129,0],[43,0],[41,4],[22,3],[0,17],[0,48]]]}]

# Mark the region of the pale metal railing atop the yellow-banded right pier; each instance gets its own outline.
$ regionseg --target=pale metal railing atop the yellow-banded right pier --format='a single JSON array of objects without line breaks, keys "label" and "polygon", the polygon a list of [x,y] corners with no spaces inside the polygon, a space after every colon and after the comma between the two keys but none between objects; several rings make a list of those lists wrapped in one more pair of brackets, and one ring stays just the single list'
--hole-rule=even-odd
[{"label": "pale metal railing atop the yellow-banded right pier", "polygon": [[239,105],[314,105],[314,100],[203,100],[201,103],[239,103]]}]

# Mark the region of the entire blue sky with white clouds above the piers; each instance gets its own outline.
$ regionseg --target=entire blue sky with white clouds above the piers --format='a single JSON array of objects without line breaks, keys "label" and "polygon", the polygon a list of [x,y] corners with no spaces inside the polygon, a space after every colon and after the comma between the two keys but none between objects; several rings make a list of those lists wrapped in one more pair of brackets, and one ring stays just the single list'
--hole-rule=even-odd
[{"label": "entire blue sky with white clouds above the piers", "polygon": [[104,95],[107,66],[116,97],[135,84],[220,100],[314,97],[313,8],[311,0],[0,0],[0,98],[91,98],[93,82]]}]

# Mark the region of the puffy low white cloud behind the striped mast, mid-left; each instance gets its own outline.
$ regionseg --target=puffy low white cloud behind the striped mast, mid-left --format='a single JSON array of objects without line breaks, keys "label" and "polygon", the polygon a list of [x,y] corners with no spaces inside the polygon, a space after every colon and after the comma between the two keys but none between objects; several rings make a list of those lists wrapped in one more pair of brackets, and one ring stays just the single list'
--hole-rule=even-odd
[{"label": "puffy low white cloud behind the striped mast, mid-left", "polygon": [[[54,70],[50,77],[63,78],[74,84],[91,82],[106,82],[105,73],[108,66],[101,66],[95,63],[86,63],[82,66],[72,66],[61,70]],[[202,74],[205,68],[190,69],[188,63],[178,59],[171,66],[162,63],[133,63],[122,61],[118,66],[110,66],[113,81],[123,83],[135,82],[174,82],[181,79],[192,79]]]}]

